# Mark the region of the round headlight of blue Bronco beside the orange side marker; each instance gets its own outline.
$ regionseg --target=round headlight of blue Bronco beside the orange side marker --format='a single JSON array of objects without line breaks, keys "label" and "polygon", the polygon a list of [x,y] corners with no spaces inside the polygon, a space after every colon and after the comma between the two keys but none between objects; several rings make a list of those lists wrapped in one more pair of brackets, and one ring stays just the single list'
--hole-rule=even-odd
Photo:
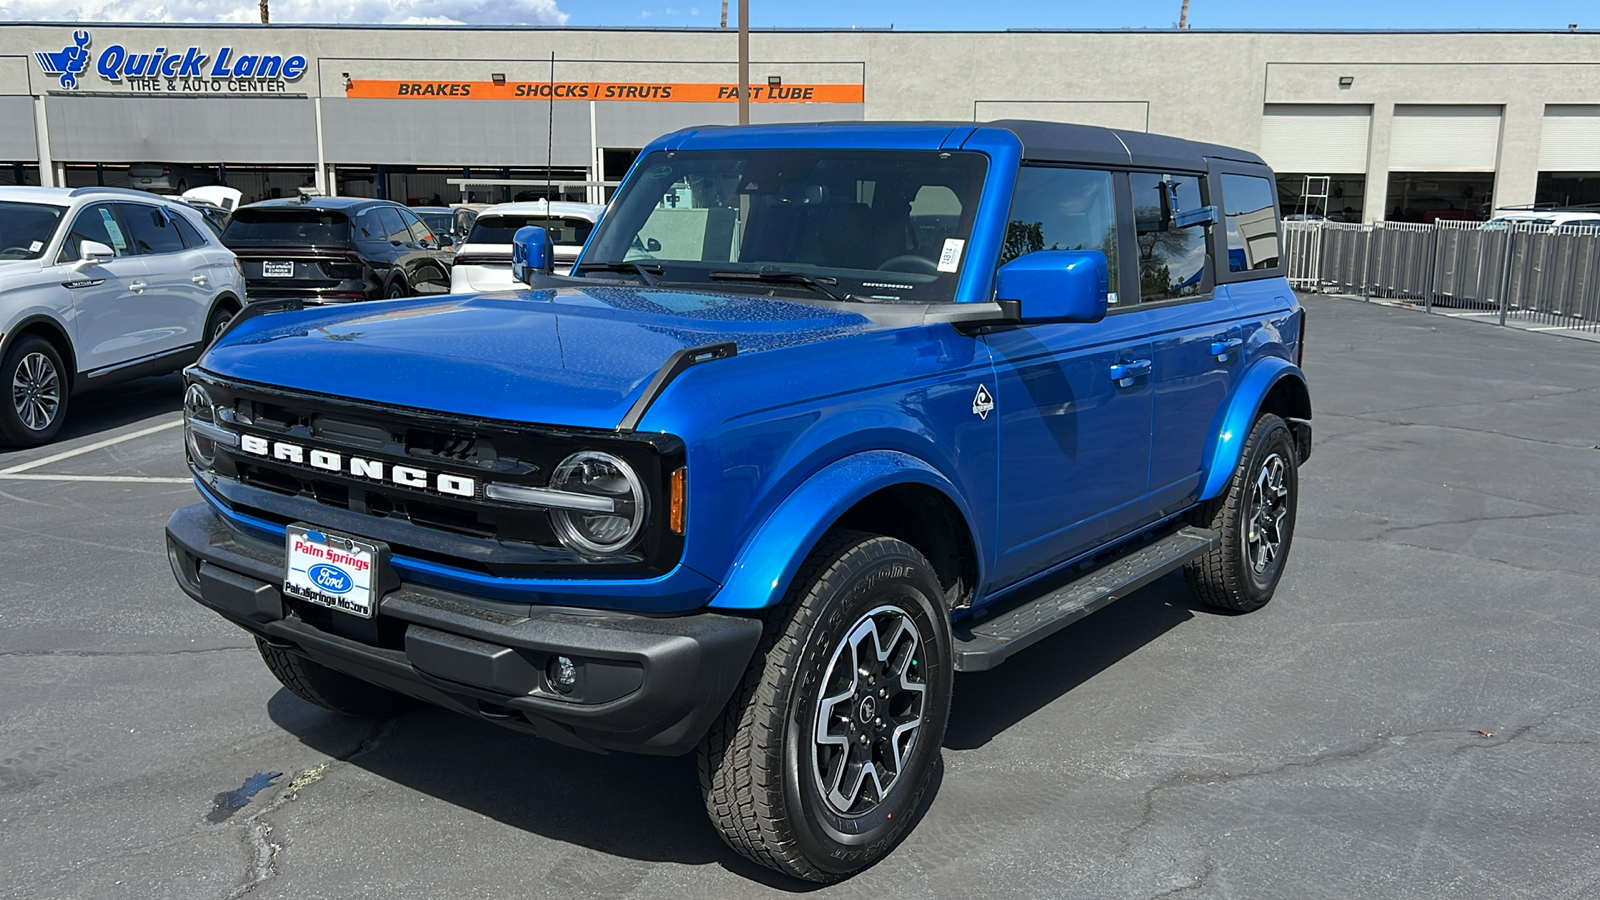
[{"label": "round headlight of blue Bronco beside the orange side marker", "polygon": [[626,551],[645,527],[645,488],[634,468],[598,450],[579,450],[562,460],[550,476],[550,487],[613,501],[610,512],[552,509],[555,536],[584,556],[614,556]]}]

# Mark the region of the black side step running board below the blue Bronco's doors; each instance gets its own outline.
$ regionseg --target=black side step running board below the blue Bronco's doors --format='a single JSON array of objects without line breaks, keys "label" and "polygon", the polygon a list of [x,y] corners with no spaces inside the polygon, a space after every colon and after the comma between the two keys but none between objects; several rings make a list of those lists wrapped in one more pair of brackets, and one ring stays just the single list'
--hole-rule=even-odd
[{"label": "black side step running board below the blue Bronco's doors", "polygon": [[1093,569],[1048,594],[1008,604],[1003,612],[968,628],[958,625],[955,629],[955,671],[992,669],[1006,661],[1011,653],[1032,647],[1190,559],[1216,549],[1221,541],[1222,536],[1210,528],[1181,528]]}]

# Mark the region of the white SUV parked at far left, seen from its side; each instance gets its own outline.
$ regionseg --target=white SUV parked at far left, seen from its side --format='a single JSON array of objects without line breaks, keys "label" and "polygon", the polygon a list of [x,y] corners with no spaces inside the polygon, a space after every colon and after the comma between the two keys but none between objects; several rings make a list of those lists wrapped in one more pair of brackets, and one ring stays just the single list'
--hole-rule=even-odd
[{"label": "white SUV parked at far left, seen from its side", "polygon": [[189,205],[117,187],[0,187],[0,444],[61,431],[67,399],[189,365],[245,306]]}]

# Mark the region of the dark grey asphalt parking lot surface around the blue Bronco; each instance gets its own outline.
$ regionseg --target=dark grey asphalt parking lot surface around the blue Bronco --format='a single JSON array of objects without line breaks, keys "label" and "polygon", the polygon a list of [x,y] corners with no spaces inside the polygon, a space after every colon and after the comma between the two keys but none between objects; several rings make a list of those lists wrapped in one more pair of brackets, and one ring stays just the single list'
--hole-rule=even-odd
[{"label": "dark grey asphalt parking lot surface around the blue Bronco", "polygon": [[[912,836],[832,895],[1600,895],[1600,348],[1309,298],[1277,599],[1178,577],[962,676]],[[0,453],[0,897],[757,897],[693,757],[280,690],[173,585],[176,376]]]}]

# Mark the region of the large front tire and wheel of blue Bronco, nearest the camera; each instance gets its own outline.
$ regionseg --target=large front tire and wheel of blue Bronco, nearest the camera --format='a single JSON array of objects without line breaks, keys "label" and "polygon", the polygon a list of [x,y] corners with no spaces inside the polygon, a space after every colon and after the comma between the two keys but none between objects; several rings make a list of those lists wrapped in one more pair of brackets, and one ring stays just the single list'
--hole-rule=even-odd
[{"label": "large front tire and wheel of blue Bronco, nearest the camera", "polygon": [[915,825],[950,709],[942,596],[904,541],[830,532],[811,551],[701,743],[706,810],[728,846],[827,882]]}]

